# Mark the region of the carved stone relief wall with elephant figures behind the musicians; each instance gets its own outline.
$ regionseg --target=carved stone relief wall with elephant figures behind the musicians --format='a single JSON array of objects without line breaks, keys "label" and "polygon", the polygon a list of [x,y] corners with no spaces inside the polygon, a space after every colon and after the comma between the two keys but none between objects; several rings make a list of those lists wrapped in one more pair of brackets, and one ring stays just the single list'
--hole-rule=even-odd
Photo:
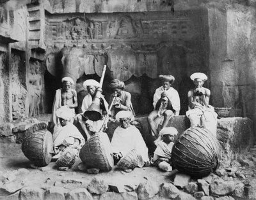
[{"label": "carved stone relief wall with elephant figures behind the musicians", "polygon": [[[170,11],[47,15],[47,70],[74,81],[83,74],[101,76],[104,64],[109,78],[125,82],[132,76],[154,80],[160,74],[172,74],[177,80],[173,87],[188,92],[180,85],[184,77],[198,70],[208,72],[206,16],[204,9],[176,11],[175,15]],[[150,91],[144,96],[148,104],[152,104],[151,90],[159,86],[149,83],[140,89]],[[129,90],[138,96],[136,87]],[[138,108],[140,100],[133,102]]]}]

